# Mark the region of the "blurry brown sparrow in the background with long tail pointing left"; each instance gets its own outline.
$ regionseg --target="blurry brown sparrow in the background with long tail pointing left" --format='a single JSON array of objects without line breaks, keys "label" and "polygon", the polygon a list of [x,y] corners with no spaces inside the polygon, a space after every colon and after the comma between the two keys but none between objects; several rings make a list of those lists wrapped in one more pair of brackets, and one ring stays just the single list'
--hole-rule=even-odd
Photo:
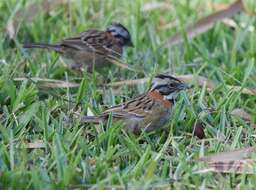
[{"label": "blurry brown sparrow in the background with long tail pointing left", "polygon": [[25,43],[24,48],[54,50],[71,60],[73,69],[85,66],[94,68],[109,65],[111,59],[120,58],[125,46],[133,46],[129,31],[120,23],[111,24],[105,31],[90,29],[77,37],[62,40],[58,44]]}]

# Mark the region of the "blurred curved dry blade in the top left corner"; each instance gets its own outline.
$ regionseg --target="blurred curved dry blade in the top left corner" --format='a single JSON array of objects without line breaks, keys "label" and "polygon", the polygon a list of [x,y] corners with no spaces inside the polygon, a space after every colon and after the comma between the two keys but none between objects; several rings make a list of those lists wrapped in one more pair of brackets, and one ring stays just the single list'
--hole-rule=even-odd
[{"label": "blurred curved dry blade in the top left corner", "polygon": [[17,33],[17,28],[20,22],[30,22],[39,13],[48,13],[54,9],[57,5],[66,3],[66,0],[41,0],[34,3],[30,3],[24,9],[19,9],[14,15],[12,15],[7,24],[6,32],[11,39],[13,39]]}]

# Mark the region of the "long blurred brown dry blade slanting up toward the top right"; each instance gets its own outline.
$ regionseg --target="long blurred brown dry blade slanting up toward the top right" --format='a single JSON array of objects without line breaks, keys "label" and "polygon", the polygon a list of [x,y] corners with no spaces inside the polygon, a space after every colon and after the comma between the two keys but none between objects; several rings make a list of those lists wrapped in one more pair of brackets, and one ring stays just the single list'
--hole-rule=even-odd
[{"label": "long blurred brown dry blade slanting up toward the top right", "polygon": [[[217,21],[222,21],[225,18],[231,17],[237,12],[243,9],[242,0],[236,0],[226,9],[219,10],[205,18],[198,20],[195,24],[189,25],[186,29],[186,34],[188,39],[192,39],[195,36],[208,31],[210,28],[214,26]],[[171,38],[169,38],[165,42],[166,47],[171,47],[173,45],[179,44],[183,41],[182,33],[178,32],[174,34]]]}]

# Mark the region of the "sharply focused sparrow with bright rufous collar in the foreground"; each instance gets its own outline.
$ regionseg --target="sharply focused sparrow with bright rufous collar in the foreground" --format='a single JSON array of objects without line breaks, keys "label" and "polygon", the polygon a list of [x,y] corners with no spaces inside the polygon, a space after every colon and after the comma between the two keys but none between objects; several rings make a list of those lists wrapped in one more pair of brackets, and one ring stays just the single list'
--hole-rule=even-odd
[{"label": "sharply focused sparrow with bright rufous collar in the foreground", "polygon": [[153,131],[163,127],[171,116],[175,98],[188,85],[169,75],[157,75],[150,90],[127,102],[110,107],[100,116],[85,116],[82,122],[105,122],[110,113],[113,121],[121,120],[127,129],[135,134]]}]

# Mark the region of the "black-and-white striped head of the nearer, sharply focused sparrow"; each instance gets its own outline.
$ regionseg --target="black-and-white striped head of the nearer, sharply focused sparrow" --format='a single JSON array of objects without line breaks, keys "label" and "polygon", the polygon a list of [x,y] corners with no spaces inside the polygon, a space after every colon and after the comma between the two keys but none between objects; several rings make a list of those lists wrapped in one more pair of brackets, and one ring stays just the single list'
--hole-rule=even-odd
[{"label": "black-and-white striped head of the nearer, sharply focused sparrow", "polygon": [[157,75],[152,80],[150,91],[157,90],[165,99],[173,101],[179,91],[188,89],[188,85],[170,75]]}]

